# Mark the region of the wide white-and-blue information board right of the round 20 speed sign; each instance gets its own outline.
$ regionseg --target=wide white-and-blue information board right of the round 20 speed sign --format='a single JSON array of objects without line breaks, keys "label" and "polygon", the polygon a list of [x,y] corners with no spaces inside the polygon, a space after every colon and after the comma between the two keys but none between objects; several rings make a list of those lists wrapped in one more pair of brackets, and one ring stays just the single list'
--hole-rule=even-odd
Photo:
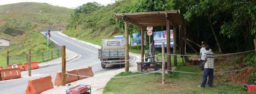
[{"label": "wide white-and-blue information board right of the round 20 speed sign", "polygon": [[[155,47],[162,47],[162,42],[164,42],[164,47],[167,47],[166,36],[166,31],[154,32]],[[173,48],[173,30],[170,30],[170,47]]]}]

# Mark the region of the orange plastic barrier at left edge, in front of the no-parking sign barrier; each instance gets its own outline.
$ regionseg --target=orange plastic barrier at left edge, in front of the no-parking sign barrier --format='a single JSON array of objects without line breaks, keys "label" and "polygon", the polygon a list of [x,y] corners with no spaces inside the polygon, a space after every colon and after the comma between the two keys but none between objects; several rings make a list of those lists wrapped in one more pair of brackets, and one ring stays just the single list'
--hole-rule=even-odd
[{"label": "orange plastic barrier at left edge, in front of the no-parking sign barrier", "polygon": [[1,80],[7,80],[7,79],[14,79],[14,78],[21,78],[20,74],[20,68],[7,68],[7,69],[1,69]]}]

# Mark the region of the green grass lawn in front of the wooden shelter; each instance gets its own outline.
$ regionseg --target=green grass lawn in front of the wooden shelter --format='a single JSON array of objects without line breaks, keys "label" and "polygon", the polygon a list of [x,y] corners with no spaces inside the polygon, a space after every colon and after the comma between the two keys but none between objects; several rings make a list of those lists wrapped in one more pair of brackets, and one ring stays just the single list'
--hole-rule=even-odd
[{"label": "green grass lawn in front of the wooden shelter", "polygon": [[[197,66],[177,67],[176,71],[200,72]],[[141,74],[139,72],[122,72],[116,76]],[[197,87],[201,83],[202,74],[166,74],[166,84],[162,83],[161,73],[128,78],[112,78],[103,92],[113,94],[253,94],[244,91],[243,86],[214,79],[213,88]],[[177,85],[171,85],[177,84]],[[255,94],[255,93],[254,93]]]}]

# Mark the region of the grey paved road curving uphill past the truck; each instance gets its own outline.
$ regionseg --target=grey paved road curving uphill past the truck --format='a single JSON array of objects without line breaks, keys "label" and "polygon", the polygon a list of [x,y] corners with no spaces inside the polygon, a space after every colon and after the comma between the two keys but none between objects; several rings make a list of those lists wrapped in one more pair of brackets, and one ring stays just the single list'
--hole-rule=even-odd
[{"label": "grey paved road curving uphill past the truck", "polygon": [[[74,51],[75,53],[81,55],[79,59],[85,60],[98,60],[97,49],[91,46],[85,45],[83,43],[79,43],[72,39],[63,37],[57,32],[52,32],[52,39],[61,45],[65,45],[66,49],[70,51]],[[133,57],[130,57],[133,59]],[[99,60],[98,60],[99,61]],[[70,61],[66,64],[66,70],[78,69],[91,66],[94,75],[101,74],[104,72],[109,72],[111,70],[117,69],[120,66],[107,66],[105,69],[101,68],[100,62],[88,62],[83,60],[74,60]],[[0,81],[0,91],[5,94],[25,94],[25,89],[28,85],[28,80],[35,79],[42,76],[51,75],[52,82],[54,83],[54,79],[56,77],[56,72],[61,71],[61,65],[55,65],[50,67],[44,67],[32,70],[32,76],[27,76],[27,71],[21,72],[22,78],[20,79],[12,79],[12,80],[4,80]]]}]

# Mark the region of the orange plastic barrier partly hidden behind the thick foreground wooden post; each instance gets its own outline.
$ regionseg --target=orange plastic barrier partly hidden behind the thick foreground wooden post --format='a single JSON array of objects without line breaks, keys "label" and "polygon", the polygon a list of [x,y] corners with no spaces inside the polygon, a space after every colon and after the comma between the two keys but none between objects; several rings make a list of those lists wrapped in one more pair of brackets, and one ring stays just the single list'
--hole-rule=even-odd
[{"label": "orange plastic barrier partly hidden behind the thick foreground wooden post", "polygon": [[[70,74],[75,74],[75,75],[77,75],[77,70],[72,70],[72,71],[67,71],[68,73],[70,73]],[[61,72],[57,72],[57,75],[56,75],[56,78],[55,78],[55,80],[54,80],[54,84],[56,85],[56,86],[61,86],[61,80],[62,80],[62,76],[61,76]],[[78,80],[78,77],[77,76],[72,76],[72,75],[69,75],[69,77],[68,77],[68,75],[66,75],[66,77],[65,77],[66,79],[66,83],[65,84],[67,84],[67,83],[71,83],[71,82],[74,82],[74,81],[77,81]]]}]

